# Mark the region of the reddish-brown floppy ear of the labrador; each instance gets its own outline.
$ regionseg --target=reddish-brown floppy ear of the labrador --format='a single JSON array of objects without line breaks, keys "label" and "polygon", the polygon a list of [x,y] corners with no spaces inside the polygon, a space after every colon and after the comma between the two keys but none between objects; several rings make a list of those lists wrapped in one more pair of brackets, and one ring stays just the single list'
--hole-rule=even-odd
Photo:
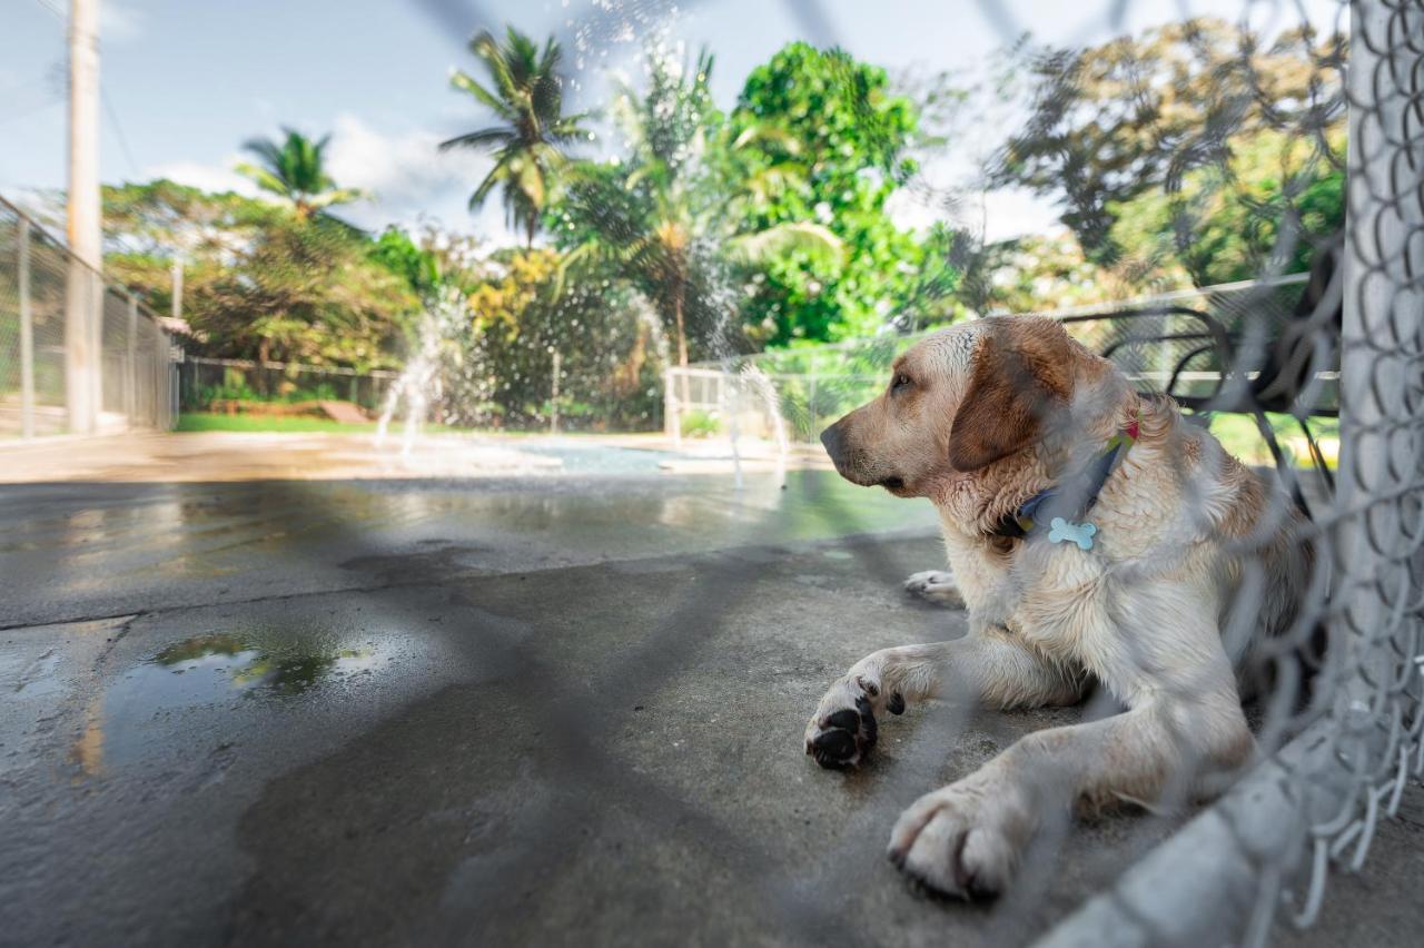
[{"label": "reddish-brown floppy ear of the labrador", "polygon": [[1072,396],[1068,335],[1051,320],[991,317],[950,426],[950,464],[977,471],[1038,441]]}]

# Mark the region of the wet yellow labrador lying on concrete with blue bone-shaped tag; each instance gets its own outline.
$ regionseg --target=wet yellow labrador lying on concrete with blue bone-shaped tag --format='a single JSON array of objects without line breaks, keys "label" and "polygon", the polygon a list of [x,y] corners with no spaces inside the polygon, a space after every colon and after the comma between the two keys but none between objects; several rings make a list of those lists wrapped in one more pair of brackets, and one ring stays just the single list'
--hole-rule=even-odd
[{"label": "wet yellow labrador lying on concrete with blue bone-shaped tag", "polygon": [[1126,709],[1028,734],[923,796],[890,837],[907,874],[998,892],[1045,816],[1203,794],[1250,760],[1226,616],[1249,591],[1262,633],[1289,628],[1312,555],[1284,490],[1171,399],[1136,394],[1052,319],[990,317],[910,349],[822,441],[847,480],[934,502],[953,578],[910,585],[963,599],[970,632],[856,662],[810,719],[809,754],[854,766],[879,712],[926,697],[1071,705],[1096,682]]}]

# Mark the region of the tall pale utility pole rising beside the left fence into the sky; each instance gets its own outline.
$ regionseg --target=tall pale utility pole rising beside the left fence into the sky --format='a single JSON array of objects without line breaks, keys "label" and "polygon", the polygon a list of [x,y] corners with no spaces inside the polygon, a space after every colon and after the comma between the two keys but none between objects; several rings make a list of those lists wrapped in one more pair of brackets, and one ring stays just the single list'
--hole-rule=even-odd
[{"label": "tall pale utility pole rising beside the left fence into the sky", "polygon": [[64,381],[70,431],[90,434],[98,420],[100,313],[104,260],[98,191],[98,4],[70,0],[70,259],[64,310]]}]

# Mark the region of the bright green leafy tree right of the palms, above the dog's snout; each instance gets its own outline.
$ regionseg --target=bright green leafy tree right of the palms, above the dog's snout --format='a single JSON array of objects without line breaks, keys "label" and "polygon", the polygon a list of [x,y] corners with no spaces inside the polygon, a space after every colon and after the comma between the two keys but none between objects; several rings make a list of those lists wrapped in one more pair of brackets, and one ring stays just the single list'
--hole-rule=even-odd
[{"label": "bright green leafy tree right of the palms, above the dog's snout", "polygon": [[[749,196],[738,229],[819,223],[844,246],[790,249],[746,275],[743,319],[763,344],[870,335],[914,297],[924,248],[886,214],[914,171],[913,104],[884,70],[792,43],[752,71],[731,117],[728,155]],[[921,289],[924,289],[921,286]]]}]

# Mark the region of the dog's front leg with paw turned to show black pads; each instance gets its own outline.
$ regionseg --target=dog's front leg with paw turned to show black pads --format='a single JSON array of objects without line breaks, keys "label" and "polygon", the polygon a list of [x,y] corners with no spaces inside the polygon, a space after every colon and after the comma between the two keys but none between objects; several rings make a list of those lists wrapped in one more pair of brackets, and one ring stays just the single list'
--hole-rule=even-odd
[{"label": "dog's front leg with paw turned to show black pads", "polygon": [[1007,629],[961,639],[880,649],[856,662],[820,699],[806,725],[806,753],[823,767],[860,763],[876,743],[876,713],[941,695],[1004,710],[1072,705],[1084,680],[1049,662]]}]

